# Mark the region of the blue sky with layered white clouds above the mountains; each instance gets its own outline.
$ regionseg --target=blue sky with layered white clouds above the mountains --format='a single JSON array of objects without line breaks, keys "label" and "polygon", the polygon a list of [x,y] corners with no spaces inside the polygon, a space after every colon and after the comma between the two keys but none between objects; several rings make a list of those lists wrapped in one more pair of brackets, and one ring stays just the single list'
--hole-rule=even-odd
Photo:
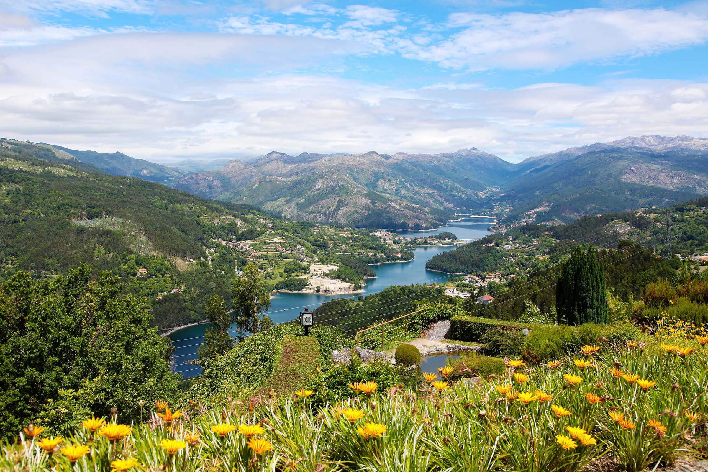
[{"label": "blue sky with layered white clouds above the mountains", "polygon": [[0,0],[0,134],[176,159],[510,161],[708,137],[708,2]]}]

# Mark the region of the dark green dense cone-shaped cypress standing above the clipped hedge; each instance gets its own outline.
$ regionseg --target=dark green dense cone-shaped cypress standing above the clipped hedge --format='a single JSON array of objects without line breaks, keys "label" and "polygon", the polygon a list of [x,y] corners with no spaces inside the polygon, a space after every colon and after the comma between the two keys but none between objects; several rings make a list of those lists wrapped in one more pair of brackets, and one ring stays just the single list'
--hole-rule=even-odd
[{"label": "dark green dense cone-shaped cypress standing above the clipped hedge", "polygon": [[605,269],[592,246],[576,246],[564,263],[556,282],[556,316],[559,324],[607,323]]}]

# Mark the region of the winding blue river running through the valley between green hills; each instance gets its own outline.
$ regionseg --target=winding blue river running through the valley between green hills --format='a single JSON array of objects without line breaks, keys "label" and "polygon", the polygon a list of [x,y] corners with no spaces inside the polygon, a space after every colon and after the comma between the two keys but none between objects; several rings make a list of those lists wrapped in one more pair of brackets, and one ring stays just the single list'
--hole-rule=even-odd
[{"label": "winding blue river running through the valley between green hills", "polygon": [[[493,224],[493,221],[494,220],[490,218],[465,218],[464,221],[455,221],[434,231],[396,232],[406,238],[421,235],[432,236],[436,234],[435,231],[438,233],[440,231],[452,231],[458,238],[464,239],[481,238],[489,234],[487,229]],[[428,262],[433,255],[450,251],[451,249],[452,246],[418,246],[414,251],[416,256],[411,262],[372,265],[371,267],[376,271],[377,277],[375,279],[365,280],[366,285],[363,287],[363,293],[352,295],[277,294],[270,299],[270,309],[268,309],[267,314],[273,320],[273,323],[280,323],[297,318],[299,312],[304,309],[304,307],[314,310],[323,304],[324,301],[337,298],[365,297],[368,294],[381,292],[391,285],[443,282],[452,276],[433,270],[427,270],[426,262]],[[179,372],[186,377],[200,374],[200,367],[193,364],[185,364],[184,362],[197,358],[197,348],[204,338],[206,328],[206,324],[188,326],[168,336],[172,340],[173,346],[176,348],[172,357],[173,372]]]}]

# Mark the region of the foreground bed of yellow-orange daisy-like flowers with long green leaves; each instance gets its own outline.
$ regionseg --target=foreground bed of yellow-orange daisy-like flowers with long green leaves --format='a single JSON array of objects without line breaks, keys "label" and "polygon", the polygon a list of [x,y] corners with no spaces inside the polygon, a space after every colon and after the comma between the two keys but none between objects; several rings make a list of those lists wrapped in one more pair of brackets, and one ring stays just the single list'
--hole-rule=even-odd
[{"label": "foreground bed of yellow-orange daisy-like flowers with long green leaves", "polygon": [[[662,328],[663,329],[663,328]],[[661,330],[659,331],[661,335]],[[585,346],[534,367],[511,359],[480,386],[449,368],[418,391],[361,379],[319,408],[312,390],[231,401],[222,411],[156,405],[144,424],[87,418],[71,437],[28,426],[2,446],[8,471],[641,471],[704,450],[703,339],[661,352]],[[708,342],[708,339],[705,339]],[[588,464],[590,464],[588,466]],[[608,469],[609,467],[609,469]]]}]

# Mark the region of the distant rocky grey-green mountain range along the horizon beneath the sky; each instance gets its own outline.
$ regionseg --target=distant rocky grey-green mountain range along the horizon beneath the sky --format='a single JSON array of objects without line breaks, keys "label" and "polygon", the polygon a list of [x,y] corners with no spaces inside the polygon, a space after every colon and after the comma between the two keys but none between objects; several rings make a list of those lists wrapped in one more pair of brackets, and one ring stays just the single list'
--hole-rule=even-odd
[{"label": "distant rocky grey-green mountain range along the horizon beneath the sky", "polygon": [[626,137],[517,164],[472,148],[441,154],[273,151],[224,166],[222,159],[162,166],[120,152],[49,147],[107,173],[200,197],[292,219],[387,229],[428,229],[467,213],[561,223],[708,194],[708,139],[689,136]]}]

